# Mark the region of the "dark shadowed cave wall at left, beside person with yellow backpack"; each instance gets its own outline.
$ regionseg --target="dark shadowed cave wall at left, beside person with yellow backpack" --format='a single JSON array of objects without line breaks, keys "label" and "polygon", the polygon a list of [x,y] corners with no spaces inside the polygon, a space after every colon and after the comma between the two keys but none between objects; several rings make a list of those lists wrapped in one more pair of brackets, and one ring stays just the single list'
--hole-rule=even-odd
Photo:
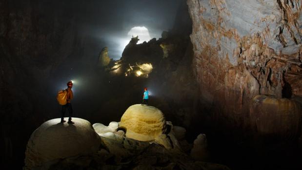
[{"label": "dark shadowed cave wall at left, beside person with yellow backpack", "polygon": [[20,169],[31,132],[55,111],[50,105],[55,97],[49,97],[49,77],[79,45],[75,19],[66,7],[46,0],[0,0],[0,147],[4,168]]}]

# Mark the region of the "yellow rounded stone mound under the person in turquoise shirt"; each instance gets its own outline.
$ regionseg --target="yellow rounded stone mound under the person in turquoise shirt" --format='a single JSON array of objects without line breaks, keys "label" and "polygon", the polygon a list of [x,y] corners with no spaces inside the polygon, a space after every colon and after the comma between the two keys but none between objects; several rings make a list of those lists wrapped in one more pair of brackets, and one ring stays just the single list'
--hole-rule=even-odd
[{"label": "yellow rounded stone mound under the person in turquoise shirt", "polygon": [[120,127],[126,129],[126,137],[140,141],[154,140],[162,134],[165,125],[163,113],[152,106],[130,106],[121,116]]}]

